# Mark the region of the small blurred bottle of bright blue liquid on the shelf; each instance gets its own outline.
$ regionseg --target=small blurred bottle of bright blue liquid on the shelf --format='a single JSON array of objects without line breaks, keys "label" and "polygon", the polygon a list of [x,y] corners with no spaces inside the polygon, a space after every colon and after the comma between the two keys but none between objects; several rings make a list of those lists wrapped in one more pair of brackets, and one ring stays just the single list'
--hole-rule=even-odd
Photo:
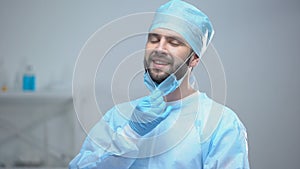
[{"label": "small blurred bottle of bright blue liquid on the shelf", "polygon": [[35,80],[33,66],[28,65],[23,74],[23,91],[35,91]]}]

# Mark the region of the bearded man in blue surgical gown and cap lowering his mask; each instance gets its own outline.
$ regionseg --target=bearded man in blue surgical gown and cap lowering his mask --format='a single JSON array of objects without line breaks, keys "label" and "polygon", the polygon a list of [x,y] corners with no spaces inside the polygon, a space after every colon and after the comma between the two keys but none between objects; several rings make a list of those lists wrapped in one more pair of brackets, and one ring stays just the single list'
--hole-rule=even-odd
[{"label": "bearded man in blue surgical gown and cap lowering his mask", "polygon": [[108,111],[69,168],[249,168],[236,114],[190,84],[213,33],[191,4],[172,0],[158,8],[144,57],[149,96]]}]

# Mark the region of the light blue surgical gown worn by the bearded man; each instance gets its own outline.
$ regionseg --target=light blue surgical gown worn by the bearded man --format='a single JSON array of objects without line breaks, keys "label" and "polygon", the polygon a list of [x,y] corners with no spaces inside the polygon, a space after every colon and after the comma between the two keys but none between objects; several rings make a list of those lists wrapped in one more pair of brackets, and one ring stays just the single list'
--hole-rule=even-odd
[{"label": "light blue surgical gown worn by the bearded man", "polygon": [[[154,152],[152,155],[143,154],[142,147],[135,146],[135,142],[115,135],[126,126],[128,127],[128,117],[132,112],[132,109],[128,107],[134,107],[138,101],[139,99],[123,103],[109,110],[91,130],[80,153],[70,162],[69,168],[249,168],[245,127],[237,115],[225,106],[218,104],[222,108],[221,113],[210,111],[212,105],[217,103],[199,91],[180,101],[167,103],[175,107],[174,110],[167,119],[148,134],[148,137],[154,139],[143,147],[167,146],[164,147],[164,151]],[[195,115],[192,119],[180,119],[180,117],[189,117],[191,114]],[[183,131],[184,137],[177,137],[183,133],[180,130],[188,126],[187,124],[191,126],[188,132]],[[170,130],[170,128],[175,128],[175,130]],[[166,131],[170,132],[163,139],[155,140],[153,137],[167,133]],[[178,138],[181,139],[178,140]],[[134,155],[128,155],[130,153],[136,155],[137,158],[134,158]]]}]

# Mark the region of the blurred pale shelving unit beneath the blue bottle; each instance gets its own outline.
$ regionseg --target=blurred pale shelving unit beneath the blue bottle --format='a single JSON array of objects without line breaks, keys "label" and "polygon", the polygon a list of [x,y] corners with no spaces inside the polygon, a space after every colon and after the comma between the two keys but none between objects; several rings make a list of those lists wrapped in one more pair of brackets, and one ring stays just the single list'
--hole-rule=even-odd
[{"label": "blurred pale shelving unit beneath the blue bottle", "polygon": [[[31,163],[39,154],[45,165],[67,165],[65,160],[73,156],[75,145],[76,115],[72,103],[72,93],[67,91],[0,93],[0,150],[20,148],[4,157],[18,160],[24,156],[24,163]],[[13,160],[0,162],[7,163],[2,168],[23,168],[11,167],[16,162]]]}]

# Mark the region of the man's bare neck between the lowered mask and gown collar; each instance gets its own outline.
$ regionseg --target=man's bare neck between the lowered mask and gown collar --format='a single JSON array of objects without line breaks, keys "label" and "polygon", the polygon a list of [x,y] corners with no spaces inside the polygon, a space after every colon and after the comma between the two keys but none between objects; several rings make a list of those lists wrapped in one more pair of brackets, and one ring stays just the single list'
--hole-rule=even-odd
[{"label": "man's bare neck between the lowered mask and gown collar", "polygon": [[195,93],[196,90],[191,87],[189,84],[189,74],[184,78],[181,85],[172,93],[165,96],[166,102],[172,102],[177,101],[180,99],[183,99],[193,93]]}]

